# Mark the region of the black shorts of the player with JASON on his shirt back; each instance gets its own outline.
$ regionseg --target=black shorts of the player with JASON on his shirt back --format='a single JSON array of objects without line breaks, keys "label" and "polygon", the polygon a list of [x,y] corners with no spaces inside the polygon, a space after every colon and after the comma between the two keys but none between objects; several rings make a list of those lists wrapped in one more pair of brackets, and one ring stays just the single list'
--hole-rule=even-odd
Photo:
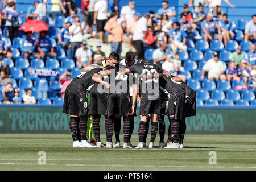
[{"label": "black shorts of the player with JASON on his shirt back", "polygon": [[139,114],[144,116],[148,114],[160,114],[160,98],[156,100],[141,99],[141,107],[139,107]]}]

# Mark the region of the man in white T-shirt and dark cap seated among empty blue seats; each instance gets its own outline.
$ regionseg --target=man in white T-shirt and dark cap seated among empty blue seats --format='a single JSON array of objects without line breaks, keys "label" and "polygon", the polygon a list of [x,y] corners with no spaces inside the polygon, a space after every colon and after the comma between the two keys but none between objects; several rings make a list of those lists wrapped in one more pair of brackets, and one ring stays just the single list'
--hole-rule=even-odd
[{"label": "man in white T-shirt and dark cap seated among empty blue seats", "polygon": [[201,79],[204,79],[205,72],[208,72],[209,80],[226,80],[224,63],[218,60],[218,52],[213,53],[213,58],[209,59],[202,71]]}]

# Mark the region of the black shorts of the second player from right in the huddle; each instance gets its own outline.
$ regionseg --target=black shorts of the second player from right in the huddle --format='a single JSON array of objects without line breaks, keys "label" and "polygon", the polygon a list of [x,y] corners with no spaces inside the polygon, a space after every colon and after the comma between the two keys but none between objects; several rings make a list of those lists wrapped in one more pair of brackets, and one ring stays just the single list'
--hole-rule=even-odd
[{"label": "black shorts of the second player from right in the huddle", "polygon": [[184,117],[185,94],[176,96],[171,94],[169,98],[169,119],[182,120]]}]

